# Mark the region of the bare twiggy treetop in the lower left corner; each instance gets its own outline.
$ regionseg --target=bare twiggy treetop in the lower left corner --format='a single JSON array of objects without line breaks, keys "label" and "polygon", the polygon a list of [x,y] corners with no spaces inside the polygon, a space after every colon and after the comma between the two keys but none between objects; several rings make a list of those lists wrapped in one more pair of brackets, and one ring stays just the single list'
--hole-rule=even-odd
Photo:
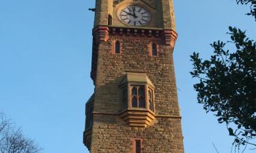
[{"label": "bare twiggy treetop in the lower left corner", "polygon": [[1,153],[40,153],[42,149],[34,141],[16,129],[5,114],[0,112],[0,152]]}]

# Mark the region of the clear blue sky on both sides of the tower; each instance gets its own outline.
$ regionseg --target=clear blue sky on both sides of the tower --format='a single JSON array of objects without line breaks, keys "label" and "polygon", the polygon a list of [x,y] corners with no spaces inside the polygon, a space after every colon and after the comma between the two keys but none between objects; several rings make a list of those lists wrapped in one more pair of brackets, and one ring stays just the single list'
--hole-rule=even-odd
[{"label": "clear blue sky on both sides of the tower", "polygon": [[[212,54],[210,43],[227,40],[228,26],[255,39],[256,22],[235,0],[175,3],[178,39],[175,75],[186,153],[230,152],[231,137],[205,114],[193,90],[190,54]],[[0,110],[45,153],[82,153],[85,102],[94,90],[91,28],[94,1],[0,0]],[[244,153],[252,153],[248,150]],[[255,152],[255,151],[254,151]]]}]

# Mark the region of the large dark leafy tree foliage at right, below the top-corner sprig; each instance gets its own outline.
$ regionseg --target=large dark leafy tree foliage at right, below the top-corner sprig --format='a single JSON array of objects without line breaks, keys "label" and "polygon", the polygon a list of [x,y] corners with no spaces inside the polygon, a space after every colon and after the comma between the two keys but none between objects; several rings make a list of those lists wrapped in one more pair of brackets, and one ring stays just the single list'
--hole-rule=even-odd
[{"label": "large dark leafy tree foliage at right, below the top-corner sprig", "polygon": [[[245,31],[229,27],[231,41],[210,44],[214,54],[203,60],[193,53],[193,78],[198,103],[206,112],[214,112],[219,123],[225,123],[233,145],[251,145],[256,138],[256,43],[246,37]],[[233,50],[225,49],[233,44]]]}]

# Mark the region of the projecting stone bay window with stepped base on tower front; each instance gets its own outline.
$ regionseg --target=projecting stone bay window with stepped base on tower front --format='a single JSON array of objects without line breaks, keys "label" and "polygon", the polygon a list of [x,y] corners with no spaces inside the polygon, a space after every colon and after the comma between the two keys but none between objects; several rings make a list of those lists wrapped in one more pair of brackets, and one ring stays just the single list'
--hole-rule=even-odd
[{"label": "projecting stone bay window with stepped base on tower front", "polygon": [[[151,45],[151,44],[150,44]],[[151,56],[151,55],[150,55]],[[152,57],[154,58],[154,57]],[[119,83],[120,117],[129,126],[146,127],[156,118],[154,104],[155,86],[148,78],[147,73],[126,72]],[[119,97],[118,94],[118,97]],[[127,95],[127,97],[126,97]],[[123,105],[123,106],[122,106]],[[141,152],[139,142],[132,143],[132,153]]]}]

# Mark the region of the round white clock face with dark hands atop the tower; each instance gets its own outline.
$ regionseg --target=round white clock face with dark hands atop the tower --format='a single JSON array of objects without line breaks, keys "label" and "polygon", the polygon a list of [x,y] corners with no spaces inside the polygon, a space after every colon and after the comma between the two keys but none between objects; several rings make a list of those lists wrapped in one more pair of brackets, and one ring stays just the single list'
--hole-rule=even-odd
[{"label": "round white clock face with dark hands atop the tower", "polygon": [[134,27],[145,26],[150,22],[150,12],[145,8],[135,5],[124,7],[119,12],[119,20],[124,24],[128,24]]}]

